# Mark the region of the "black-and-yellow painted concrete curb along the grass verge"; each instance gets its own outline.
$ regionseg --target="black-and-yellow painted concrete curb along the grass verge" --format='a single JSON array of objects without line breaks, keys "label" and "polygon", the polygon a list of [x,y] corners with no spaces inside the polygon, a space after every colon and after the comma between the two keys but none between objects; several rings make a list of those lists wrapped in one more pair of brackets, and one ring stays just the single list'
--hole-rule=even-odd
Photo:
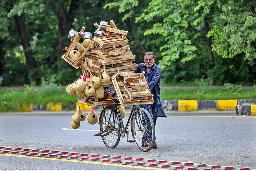
[{"label": "black-and-yellow painted concrete curb along the grass verge", "polygon": [[[237,99],[237,100],[162,100],[162,105],[164,111],[198,111],[198,110],[236,110],[239,112],[239,107],[237,105],[244,106],[241,107],[240,114],[247,113],[247,115],[255,114],[255,105],[250,105],[246,107],[245,103],[256,104],[256,99]],[[69,106],[76,110],[78,103],[72,103]],[[18,106],[19,111],[31,112],[33,110],[46,110],[46,111],[62,111],[66,110],[67,106],[63,106],[61,102],[59,103],[47,103],[46,108],[43,105],[23,104]],[[80,103],[80,108],[82,111],[90,111],[91,106]],[[124,109],[130,110],[132,106],[124,106]],[[250,109],[249,109],[250,108]],[[69,107],[70,109],[70,107]],[[102,109],[102,106],[94,107],[95,110]],[[244,111],[242,113],[242,111]],[[246,112],[245,112],[246,111]]]}]

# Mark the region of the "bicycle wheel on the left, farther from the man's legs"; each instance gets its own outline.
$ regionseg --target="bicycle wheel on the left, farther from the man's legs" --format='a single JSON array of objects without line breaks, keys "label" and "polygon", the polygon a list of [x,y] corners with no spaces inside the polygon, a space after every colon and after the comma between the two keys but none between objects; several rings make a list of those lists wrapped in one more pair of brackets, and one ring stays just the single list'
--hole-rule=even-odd
[{"label": "bicycle wheel on the left, farther from the man's legs", "polygon": [[[105,107],[101,111],[100,119],[100,133],[103,143],[108,148],[115,148],[120,141],[120,133],[118,133],[121,127],[117,121],[117,112],[114,110],[111,112],[112,107]],[[105,111],[105,113],[104,113]]]}]

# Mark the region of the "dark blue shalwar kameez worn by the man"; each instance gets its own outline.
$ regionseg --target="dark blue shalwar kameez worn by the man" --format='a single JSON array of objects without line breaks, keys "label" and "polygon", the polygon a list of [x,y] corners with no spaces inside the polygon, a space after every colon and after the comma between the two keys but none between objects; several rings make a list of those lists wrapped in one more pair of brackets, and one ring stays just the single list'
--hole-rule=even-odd
[{"label": "dark blue shalwar kameez worn by the man", "polygon": [[[164,108],[161,104],[161,97],[160,97],[162,69],[160,66],[158,66],[154,63],[154,65],[150,69],[149,73],[147,73],[146,64],[141,63],[138,65],[138,68],[135,71],[135,73],[141,73],[142,71],[145,72],[144,76],[148,82],[148,87],[151,90],[152,94],[154,95],[153,96],[154,103],[149,104],[149,105],[141,105],[141,107],[146,109],[148,111],[148,113],[151,115],[153,122],[154,122],[154,127],[155,127],[157,117],[167,117],[164,112]],[[150,128],[149,128],[149,130],[150,130]],[[146,139],[148,139],[148,138],[146,138]],[[147,143],[151,143],[151,141],[147,142]]]}]

